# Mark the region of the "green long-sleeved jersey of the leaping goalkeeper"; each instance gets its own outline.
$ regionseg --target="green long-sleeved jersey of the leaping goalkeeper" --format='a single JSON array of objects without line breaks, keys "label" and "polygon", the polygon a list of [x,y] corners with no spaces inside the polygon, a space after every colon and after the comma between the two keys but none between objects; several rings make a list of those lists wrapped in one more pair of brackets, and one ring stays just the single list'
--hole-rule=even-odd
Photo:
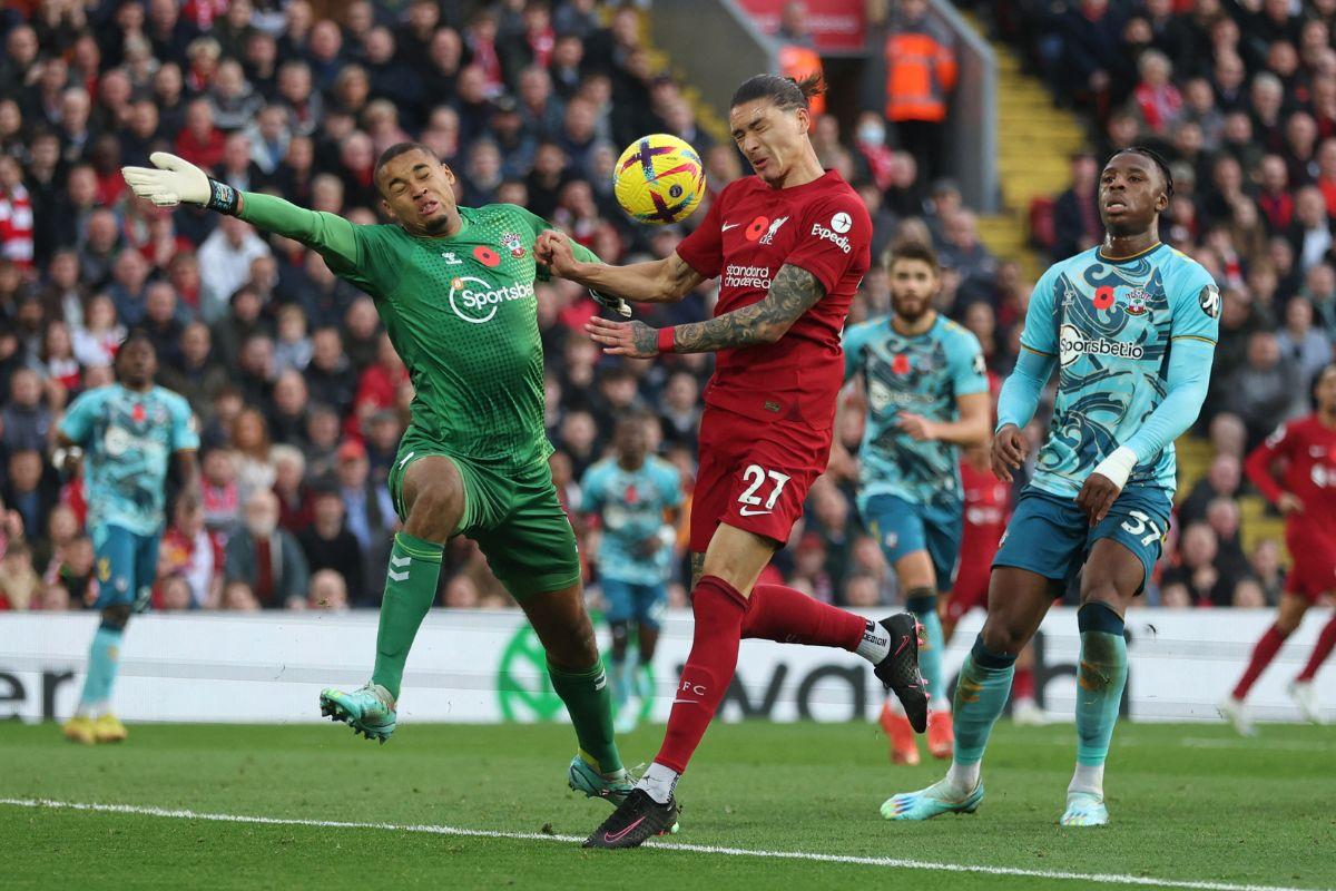
[{"label": "green long-sleeved jersey of the leaping goalkeeper", "polygon": [[[375,301],[417,391],[418,433],[501,469],[552,453],[533,289],[546,279],[533,259],[546,220],[514,204],[461,207],[458,232],[429,238],[250,192],[240,218],[310,246]],[[573,247],[580,259],[597,259]]]}]

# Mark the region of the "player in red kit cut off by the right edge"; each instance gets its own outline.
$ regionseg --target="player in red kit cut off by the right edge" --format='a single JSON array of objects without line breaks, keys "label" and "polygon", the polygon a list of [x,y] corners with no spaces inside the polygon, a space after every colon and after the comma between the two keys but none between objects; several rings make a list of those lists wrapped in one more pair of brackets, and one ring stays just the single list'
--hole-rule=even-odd
[{"label": "player in red kit cut off by the right edge", "polygon": [[[1285,545],[1295,561],[1285,578],[1276,624],[1257,641],[1244,676],[1220,704],[1220,716],[1233,721],[1245,736],[1256,732],[1244,708],[1248,691],[1299,628],[1308,608],[1336,592],[1336,365],[1319,373],[1313,389],[1317,411],[1281,425],[1244,464],[1257,490],[1285,514]],[[1272,476],[1276,464],[1284,464],[1279,482]],[[1313,677],[1333,647],[1336,617],[1323,628],[1308,664],[1289,685],[1291,699],[1315,723],[1321,723],[1321,713]]]}]

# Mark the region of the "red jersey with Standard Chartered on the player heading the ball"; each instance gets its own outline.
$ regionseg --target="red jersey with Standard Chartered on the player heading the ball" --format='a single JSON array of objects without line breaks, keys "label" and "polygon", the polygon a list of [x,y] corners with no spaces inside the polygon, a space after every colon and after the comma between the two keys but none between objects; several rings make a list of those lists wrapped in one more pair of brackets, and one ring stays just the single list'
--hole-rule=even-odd
[{"label": "red jersey with Standard Chartered on the player heading the ball", "polygon": [[776,343],[720,350],[708,405],[758,419],[788,418],[827,430],[844,382],[840,331],[871,266],[872,222],[835,171],[791,188],[759,176],[729,183],[677,255],[720,278],[715,315],[756,303],[784,263],[811,273],[826,295]]}]

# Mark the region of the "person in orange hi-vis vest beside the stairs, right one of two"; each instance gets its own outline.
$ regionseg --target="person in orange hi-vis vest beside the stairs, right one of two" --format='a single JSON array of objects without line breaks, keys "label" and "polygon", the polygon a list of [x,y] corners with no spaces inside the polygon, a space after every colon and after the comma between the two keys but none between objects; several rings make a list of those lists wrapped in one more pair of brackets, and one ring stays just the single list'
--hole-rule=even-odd
[{"label": "person in orange hi-vis vest beside the stairs, right one of two", "polygon": [[929,180],[941,174],[946,112],[955,88],[951,33],[929,19],[926,0],[903,0],[886,37],[886,119]]}]

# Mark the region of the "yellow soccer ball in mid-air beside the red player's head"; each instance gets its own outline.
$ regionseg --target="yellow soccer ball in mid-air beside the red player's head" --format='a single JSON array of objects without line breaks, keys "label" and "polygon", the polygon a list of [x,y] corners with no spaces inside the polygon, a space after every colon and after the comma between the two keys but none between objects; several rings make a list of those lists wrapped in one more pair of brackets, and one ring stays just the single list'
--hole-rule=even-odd
[{"label": "yellow soccer ball in mid-air beside the red player's head", "polygon": [[641,136],[617,159],[613,192],[621,208],[641,223],[680,223],[705,196],[705,166],[696,150],[676,136]]}]

